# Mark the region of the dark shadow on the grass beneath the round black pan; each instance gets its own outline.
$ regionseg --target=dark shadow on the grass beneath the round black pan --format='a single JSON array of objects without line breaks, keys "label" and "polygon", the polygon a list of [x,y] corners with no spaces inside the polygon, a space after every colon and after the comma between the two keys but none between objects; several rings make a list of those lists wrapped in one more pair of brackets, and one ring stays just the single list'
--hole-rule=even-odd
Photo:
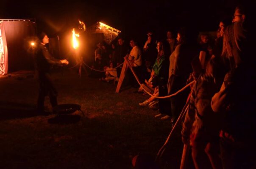
[{"label": "dark shadow on the grass beneath the round black pan", "polygon": [[56,117],[48,119],[48,123],[50,124],[74,124],[77,123],[81,119],[80,115],[71,115],[71,114],[62,114],[57,115]]}]

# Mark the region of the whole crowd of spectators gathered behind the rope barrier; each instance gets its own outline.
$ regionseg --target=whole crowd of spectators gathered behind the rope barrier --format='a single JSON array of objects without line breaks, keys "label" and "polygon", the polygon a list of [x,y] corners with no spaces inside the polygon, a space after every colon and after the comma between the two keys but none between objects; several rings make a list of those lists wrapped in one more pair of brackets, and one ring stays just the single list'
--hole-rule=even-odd
[{"label": "whole crowd of spectators gathered behind the rope barrier", "polygon": [[[95,76],[117,82],[121,68],[114,67],[127,57],[142,87],[153,94],[139,105],[158,109],[156,118],[175,123],[189,101],[181,134],[192,149],[195,168],[256,168],[254,32],[250,13],[237,7],[233,20],[220,22],[215,38],[206,33],[198,38],[197,31],[181,28],[177,34],[168,30],[166,39],[156,40],[149,31],[141,49],[134,38],[128,46],[119,37],[109,49],[97,44],[93,67],[106,74]],[[206,53],[204,61],[200,51]],[[133,74],[127,74],[130,85],[144,93]],[[154,97],[176,93],[192,81],[190,88],[174,97]]]}]

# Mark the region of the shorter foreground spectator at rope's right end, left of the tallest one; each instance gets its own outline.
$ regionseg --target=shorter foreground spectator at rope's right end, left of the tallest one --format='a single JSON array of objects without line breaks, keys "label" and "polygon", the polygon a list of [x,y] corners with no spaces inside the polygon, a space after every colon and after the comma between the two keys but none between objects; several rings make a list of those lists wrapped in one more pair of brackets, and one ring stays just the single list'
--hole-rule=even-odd
[{"label": "shorter foreground spectator at rope's right end, left of the tallest one", "polygon": [[[217,92],[223,79],[219,61],[213,57],[206,66],[206,73],[195,76],[189,99],[189,110],[181,131],[182,141],[190,145],[196,169],[222,169],[219,157],[220,119],[211,109],[211,97]],[[222,76],[223,77],[223,76]]]}]

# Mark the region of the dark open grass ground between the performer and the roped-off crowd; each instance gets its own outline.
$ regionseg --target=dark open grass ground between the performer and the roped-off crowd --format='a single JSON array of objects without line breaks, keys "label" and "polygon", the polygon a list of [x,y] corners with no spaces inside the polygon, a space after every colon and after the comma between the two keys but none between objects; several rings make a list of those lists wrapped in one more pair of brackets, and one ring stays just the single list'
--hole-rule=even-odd
[{"label": "dark open grass ground between the performer and the roped-off crowd", "polygon": [[[84,73],[84,72],[83,72]],[[79,104],[66,123],[35,111],[38,82],[33,72],[0,78],[1,169],[132,169],[138,153],[155,157],[170,133],[170,121],[139,106],[148,96],[100,82],[73,70],[52,74],[58,104]],[[46,108],[50,109],[48,98]],[[65,121],[64,121],[65,122]],[[173,138],[164,168],[179,168],[181,138]]]}]

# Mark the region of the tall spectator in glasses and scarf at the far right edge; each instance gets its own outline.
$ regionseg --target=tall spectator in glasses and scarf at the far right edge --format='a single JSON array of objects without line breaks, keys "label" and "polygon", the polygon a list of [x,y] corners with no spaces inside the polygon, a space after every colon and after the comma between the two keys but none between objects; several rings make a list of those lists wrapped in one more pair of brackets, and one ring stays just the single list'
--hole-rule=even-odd
[{"label": "tall spectator in glasses and scarf at the far right edge", "polygon": [[[253,8],[253,11],[255,9]],[[230,66],[220,91],[211,100],[214,112],[221,114],[220,153],[224,169],[253,169],[256,166],[255,125],[255,17],[237,7],[233,24],[223,35],[223,55]],[[251,15],[250,15],[251,14]]]}]

